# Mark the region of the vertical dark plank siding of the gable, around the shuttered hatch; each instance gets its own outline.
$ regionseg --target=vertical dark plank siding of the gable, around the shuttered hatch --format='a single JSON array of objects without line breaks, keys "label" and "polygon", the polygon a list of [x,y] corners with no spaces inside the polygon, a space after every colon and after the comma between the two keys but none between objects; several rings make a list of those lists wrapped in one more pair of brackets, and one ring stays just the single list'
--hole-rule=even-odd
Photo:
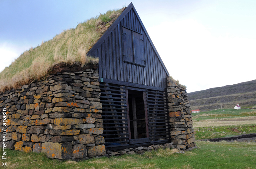
[{"label": "vertical dark plank siding of the gable, around the shuttered hatch", "polygon": [[[127,46],[123,46],[123,29],[140,33],[143,38],[140,49],[144,48],[145,63],[142,57],[141,61],[139,60],[142,66],[124,62],[123,54]],[[92,56],[99,57],[99,76],[102,78],[166,88],[167,74],[133,9],[125,15],[103,43],[91,52]]]}]

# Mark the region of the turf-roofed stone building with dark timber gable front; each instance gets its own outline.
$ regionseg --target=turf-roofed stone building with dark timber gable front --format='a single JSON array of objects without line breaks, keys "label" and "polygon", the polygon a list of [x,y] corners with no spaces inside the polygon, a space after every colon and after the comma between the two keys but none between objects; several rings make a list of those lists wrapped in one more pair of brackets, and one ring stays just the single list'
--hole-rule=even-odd
[{"label": "turf-roofed stone building with dark timber gable front", "polygon": [[31,48],[0,77],[3,148],[59,159],[196,148],[186,87],[132,3]]}]

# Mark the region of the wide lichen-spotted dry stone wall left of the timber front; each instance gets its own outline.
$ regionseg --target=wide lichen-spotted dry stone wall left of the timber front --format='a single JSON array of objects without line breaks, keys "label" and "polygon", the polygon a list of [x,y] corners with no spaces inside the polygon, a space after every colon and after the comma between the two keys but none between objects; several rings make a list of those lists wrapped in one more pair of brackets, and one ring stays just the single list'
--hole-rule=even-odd
[{"label": "wide lichen-spotted dry stone wall left of the timber front", "polygon": [[68,71],[0,93],[1,147],[59,159],[105,155],[98,78],[92,68]]}]

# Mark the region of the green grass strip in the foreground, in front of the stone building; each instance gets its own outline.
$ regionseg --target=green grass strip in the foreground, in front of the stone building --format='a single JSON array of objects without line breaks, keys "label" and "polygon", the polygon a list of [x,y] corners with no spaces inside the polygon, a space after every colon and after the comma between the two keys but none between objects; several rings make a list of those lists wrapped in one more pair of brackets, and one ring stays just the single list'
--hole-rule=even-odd
[{"label": "green grass strip in the foreground, in front of the stone building", "polygon": [[[60,161],[44,154],[8,151],[8,169],[207,169],[256,168],[256,143],[197,141],[198,149],[175,153],[173,149],[147,152],[144,155],[122,155],[85,161]],[[2,159],[1,159],[2,160]],[[2,160],[3,161],[3,160]],[[2,162],[1,162],[2,163]]]}]

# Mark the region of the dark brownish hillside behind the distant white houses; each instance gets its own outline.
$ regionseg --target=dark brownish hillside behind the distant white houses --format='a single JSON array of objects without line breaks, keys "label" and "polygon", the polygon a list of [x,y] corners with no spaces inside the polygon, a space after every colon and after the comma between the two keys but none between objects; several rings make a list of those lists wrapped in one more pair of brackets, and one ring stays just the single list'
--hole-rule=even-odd
[{"label": "dark brownish hillside behind the distant white houses", "polygon": [[213,109],[233,109],[239,103],[241,108],[256,105],[256,80],[219,88],[188,93],[192,109],[207,111]]}]

